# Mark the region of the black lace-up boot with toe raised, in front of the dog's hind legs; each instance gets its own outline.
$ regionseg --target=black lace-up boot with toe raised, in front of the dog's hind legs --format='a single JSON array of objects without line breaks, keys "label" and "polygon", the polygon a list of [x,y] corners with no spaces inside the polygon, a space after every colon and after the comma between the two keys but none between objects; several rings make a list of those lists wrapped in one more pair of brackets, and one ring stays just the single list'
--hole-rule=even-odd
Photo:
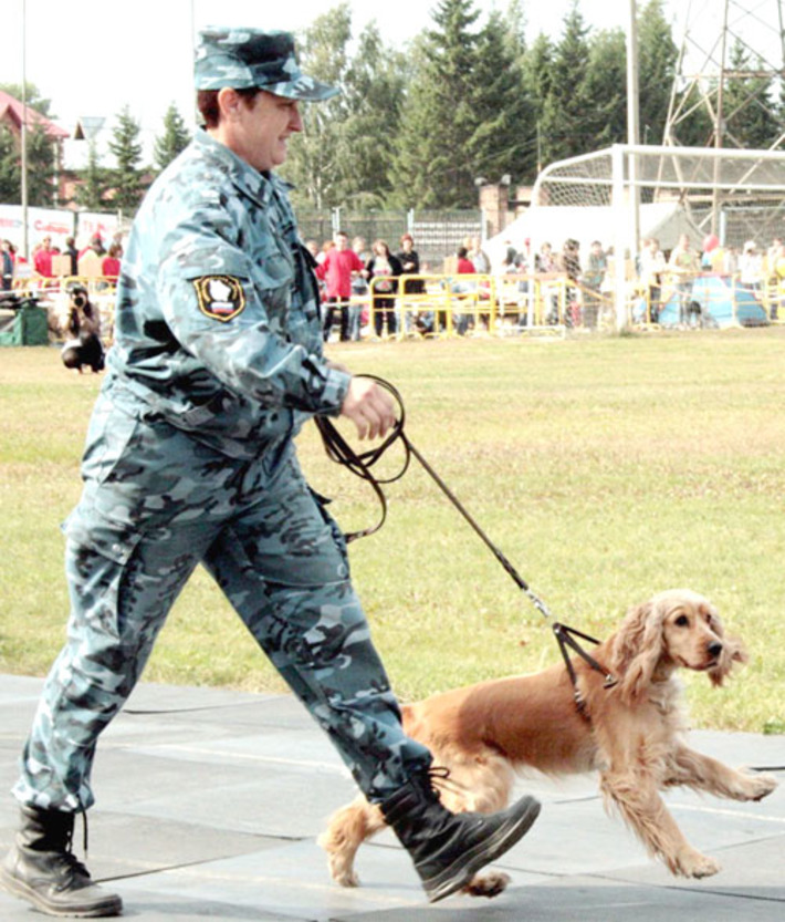
[{"label": "black lace-up boot with toe raised, in front of the dog's hind legs", "polygon": [[498,814],[451,814],[441,806],[426,773],[380,807],[411,856],[431,903],[465,887],[481,868],[523,838],[540,814],[533,797]]}]

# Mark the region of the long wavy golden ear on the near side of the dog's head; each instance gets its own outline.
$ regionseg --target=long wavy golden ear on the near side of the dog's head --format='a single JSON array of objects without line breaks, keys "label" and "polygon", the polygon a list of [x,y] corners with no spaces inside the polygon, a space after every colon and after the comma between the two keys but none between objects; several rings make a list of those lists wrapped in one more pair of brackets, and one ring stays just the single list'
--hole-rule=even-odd
[{"label": "long wavy golden ear on the near side of the dog's head", "polygon": [[662,655],[662,613],[653,602],[631,609],[614,638],[611,672],[619,678],[626,702],[638,697],[651,683]]}]

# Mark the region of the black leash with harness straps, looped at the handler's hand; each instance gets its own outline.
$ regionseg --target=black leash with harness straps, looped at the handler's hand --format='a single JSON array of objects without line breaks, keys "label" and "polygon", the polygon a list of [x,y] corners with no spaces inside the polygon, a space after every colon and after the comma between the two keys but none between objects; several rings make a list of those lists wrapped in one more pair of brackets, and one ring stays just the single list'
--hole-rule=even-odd
[{"label": "black leash with harness straps, looped at the handler's hand", "polygon": [[[437,484],[439,489],[444,494],[444,496],[447,496],[450,503],[469,522],[469,525],[473,528],[477,535],[479,535],[483,543],[490,549],[490,551],[493,553],[496,560],[502,564],[505,572],[507,573],[507,576],[512,578],[513,582],[517,586],[517,588],[526,594],[526,597],[534,604],[537,611],[540,611],[541,614],[543,614],[548,621],[552,622],[552,630],[556,636],[556,641],[562,652],[562,656],[564,657],[567,672],[569,673],[573,687],[575,688],[575,702],[578,712],[586,717],[587,715],[585,712],[584,702],[580,698],[577,691],[577,676],[575,674],[575,667],[573,666],[572,660],[569,659],[567,648],[573,650],[578,656],[580,656],[586,663],[588,663],[588,665],[593,670],[603,673],[605,676],[605,687],[611,688],[614,685],[616,685],[618,680],[610,672],[608,672],[608,670],[606,670],[605,666],[603,666],[594,657],[592,657],[583,649],[583,646],[580,646],[580,644],[575,640],[575,638],[580,638],[582,640],[588,641],[589,643],[594,644],[598,644],[599,641],[595,638],[589,636],[588,634],[584,634],[580,631],[577,631],[575,628],[569,628],[566,624],[562,624],[561,622],[554,620],[553,614],[551,613],[545,602],[535,592],[532,591],[526,580],[517,572],[517,570],[512,566],[512,563],[502,553],[502,551],[493,543],[493,541],[491,541],[491,539],[488,537],[488,535],[485,535],[485,532],[482,530],[482,528],[473,518],[473,516],[469,512],[469,510],[463,506],[463,504],[441,479],[441,477],[426,460],[422,454],[411,444],[408,436],[406,435],[406,432],[404,431],[404,424],[406,422],[406,408],[404,407],[404,400],[400,396],[400,393],[393,386],[393,384],[390,384],[388,381],[385,381],[385,379],[383,377],[377,377],[373,374],[362,376],[375,381],[379,386],[388,391],[398,404],[398,419],[395,426],[393,427],[390,434],[376,448],[371,448],[366,452],[362,452],[360,454],[357,454],[354,450],[354,448],[352,448],[352,446],[348,444],[348,442],[346,442],[346,439],[341,435],[341,433],[337,431],[337,428],[329,418],[327,418],[326,416],[315,417],[316,426],[318,427],[320,434],[322,435],[322,441],[324,443],[325,450],[327,452],[329,458],[336,462],[336,464],[341,464],[345,467],[348,467],[348,469],[353,474],[356,474],[363,480],[369,483],[374,491],[376,493],[376,496],[378,497],[381,506],[381,517],[379,521],[370,528],[363,529],[362,531],[353,531],[346,535],[346,541],[350,542],[357,540],[358,538],[365,538],[368,535],[373,535],[375,531],[378,531],[381,528],[387,518],[387,499],[385,497],[384,490],[381,489],[381,485],[391,484],[395,480],[399,480],[409,469],[411,456],[414,455],[420,463],[420,465],[425,468],[426,473]],[[371,473],[371,467],[383,457],[383,455],[395,442],[400,442],[404,447],[404,462],[400,470],[390,477],[376,477]]]}]

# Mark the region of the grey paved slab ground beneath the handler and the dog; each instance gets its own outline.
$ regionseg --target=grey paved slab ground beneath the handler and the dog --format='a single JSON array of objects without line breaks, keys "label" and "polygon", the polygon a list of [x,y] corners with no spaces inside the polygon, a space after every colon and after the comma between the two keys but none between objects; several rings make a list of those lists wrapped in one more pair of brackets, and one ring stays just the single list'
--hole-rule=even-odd
[{"label": "grey paved slab ground beneath the handler and the dog", "polygon": [[[0,675],[0,788],[15,778],[41,681]],[[695,733],[732,765],[784,766],[784,736]],[[777,776],[785,780],[779,768]],[[316,836],[353,796],[337,756],[285,695],[143,684],[104,735],[95,764],[90,861],[138,922],[756,922],[785,919],[785,784],[761,804],[667,796],[690,841],[723,864],[671,877],[603,811],[590,776],[521,783],[543,801],[532,831],[496,866],[495,900],[428,905],[385,832],[359,853],[364,885],[335,887]],[[0,849],[17,811],[0,798]],[[81,838],[81,835],[77,835]],[[43,916],[0,891],[0,920]]]}]

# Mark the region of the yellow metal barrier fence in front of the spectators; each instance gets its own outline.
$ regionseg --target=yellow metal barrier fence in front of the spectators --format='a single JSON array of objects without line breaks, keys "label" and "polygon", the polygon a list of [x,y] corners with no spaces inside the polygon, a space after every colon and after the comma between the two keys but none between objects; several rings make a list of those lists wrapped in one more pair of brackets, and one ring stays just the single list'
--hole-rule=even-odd
[{"label": "yellow metal barrier fence in front of the spectators", "polygon": [[[712,284],[716,279],[724,284]],[[563,335],[568,330],[618,329],[610,291],[588,288],[561,272],[399,276],[394,280],[391,291],[385,290],[389,281],[388,278],[374,278],[366,294],[353,296],[349,301],[362,309],[365,339]],[[59,338],[65,329],[69,290],[74,284],[84,286],[98,307],[102,339],[111,343],[115,323],[115,279],[31,276],[14,279],[13,290],[40,299],[49,311],[50,330]],[[694,280],[691,299],[700,305],[700,311],[695,314],[688,311],[683,322],[673,319],[677,286],[677,277],[670,273],[663,273],[659,289],[629,280],[628,325],[660,329],[669,302],[671,308],[666,325],[716,325],[712,319],[721,310],[721,303],[728,314],[729,300],[731,325],[750,325],[751,303],[757,305],[763,322],[785,322],[785,284],[782,281],[767,280],[758,290],[751,291],[741,284],[737,274],[703,273]]]}]

